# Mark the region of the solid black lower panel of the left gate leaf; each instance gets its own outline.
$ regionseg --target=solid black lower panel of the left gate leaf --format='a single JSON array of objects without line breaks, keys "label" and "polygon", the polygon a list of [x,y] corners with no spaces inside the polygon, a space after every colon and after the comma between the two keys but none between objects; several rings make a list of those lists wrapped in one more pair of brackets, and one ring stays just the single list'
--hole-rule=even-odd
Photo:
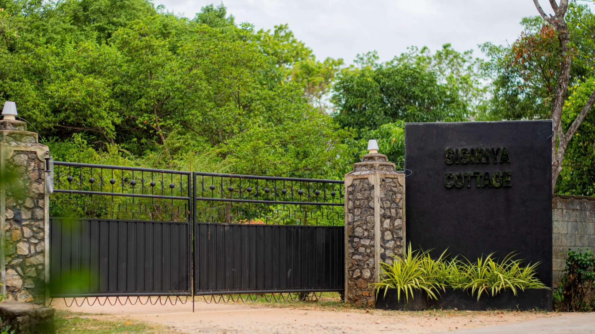
[{"label": "solid black lower panel of the left gate leaf", "polygon": [[190,224],[52,218],[52,297],[190,295]]}]

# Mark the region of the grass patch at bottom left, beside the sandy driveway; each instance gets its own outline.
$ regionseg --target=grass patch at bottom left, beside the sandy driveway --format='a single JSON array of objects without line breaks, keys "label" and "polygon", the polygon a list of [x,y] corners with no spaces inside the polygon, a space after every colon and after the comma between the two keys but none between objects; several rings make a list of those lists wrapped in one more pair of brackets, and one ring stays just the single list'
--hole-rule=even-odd
[{"label": "grass patch at bottom left, beside the sandy driveway", "polygon": [[101,315],[56,311],[56,333],[173,333],[158,324],[139,320],[112,317],[102,319]]}]

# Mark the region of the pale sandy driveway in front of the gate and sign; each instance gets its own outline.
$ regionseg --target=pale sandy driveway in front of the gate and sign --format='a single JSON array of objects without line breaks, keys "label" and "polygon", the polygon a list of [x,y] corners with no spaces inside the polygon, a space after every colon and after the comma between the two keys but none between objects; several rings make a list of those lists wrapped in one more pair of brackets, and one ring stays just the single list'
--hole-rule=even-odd
[{"label": "pale sandy driveway in front of the gate and sign", "polygon": [[[183,333],[364,333],[370,331],[400,333],[434,333],[452,330],[477,329],[484,332],[519,333],[541,332],[563,323],[581,324],[573,333],[595,333],[595,313],[560,314],[540,312],[471,312],[471,311],[381,311],[320,307],[316,303],[300,305],[220,303],[196,301],[177,305],[94,305],[66,307],[64,301],[54,300],[55,308],[96,314],[92,317],[137,319],[162,324]],[[497,326],[497,327],[488,327]],[[499,329],[500,326],[502,329]],[[505,330],[506,326],[508,329]],[[520,327],[519,327],[520,326]],[[568,332],[571,331],[568,328]],[[477,330],[469,330],[476,332]],[[464,331],[466,332],[466,331]]]}]

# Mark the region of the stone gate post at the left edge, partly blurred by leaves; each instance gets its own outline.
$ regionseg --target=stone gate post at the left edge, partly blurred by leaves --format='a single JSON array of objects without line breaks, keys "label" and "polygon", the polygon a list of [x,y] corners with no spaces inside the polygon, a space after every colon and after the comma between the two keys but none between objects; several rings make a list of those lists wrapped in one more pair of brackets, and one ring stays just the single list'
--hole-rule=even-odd
[{"label": "stone gate post at the left edge, partly blurred by leaves", "polygon": [[17,121],[14,102],[0,120],[0,268],[2,292],[9,300],[45,304],[49,259],[48,147]]}]

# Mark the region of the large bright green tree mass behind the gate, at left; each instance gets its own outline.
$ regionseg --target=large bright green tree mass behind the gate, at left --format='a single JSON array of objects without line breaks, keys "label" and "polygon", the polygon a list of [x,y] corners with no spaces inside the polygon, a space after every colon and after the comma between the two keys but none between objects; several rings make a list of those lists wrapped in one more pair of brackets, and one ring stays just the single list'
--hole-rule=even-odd
[{"label": "large bright green tree mass behind the gate, at left", "polygon": [[0,11],[0,96],[52,146],[86,147],[98,161],[343,172],[352,135],[305,102],[301,83],[279,80],[249,24],[235,26],[223,6],[188,20],[147,4],[10,1],[11,14]]}]

